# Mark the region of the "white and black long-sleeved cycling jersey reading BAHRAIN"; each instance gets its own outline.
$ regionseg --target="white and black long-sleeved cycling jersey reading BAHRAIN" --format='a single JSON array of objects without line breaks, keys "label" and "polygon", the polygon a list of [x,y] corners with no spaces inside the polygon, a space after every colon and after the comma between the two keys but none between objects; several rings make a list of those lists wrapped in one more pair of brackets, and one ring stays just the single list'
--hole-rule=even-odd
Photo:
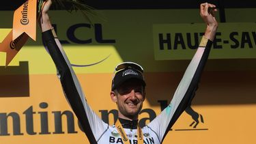
[{"label": "white and black long-sleeved cycling jersey reading BAHRAIN", "polygon": [[[66,53],[61,47],[59,40],[53,37],[51,30],[44,31],[42,33],[42,38],[44,45],[48,48],[48,52],[57,67],[57,76],[61,81],[63,93],[76,114],[76,117],[78,117],[89,142],[100,144],[123,143],[115,125],[110,126],[109,124],[104,123],[104,121],[94,113],[85,100],[81,85],[76,78],[76,74],[72,69]],[[171,129],[171,126],[173,126],[177,118],[180,117],[188,104],[190,104],[195,96],[199,78],[203,67],[205,66],[205,62],[208,59],[211,45],[212,42],[210,40],[203,38],[199,48],[197,48],[195,56],[184,73],[169,106],[167,106],[167,108],[153,121],[150,121],[149,124],[142,128],[144,143],[162,143],[167,132]],[[122,124],[126,122],[124,119],[121,119],[120,121]],[[137,125],[137,123],[135,123],[135,125]],[[124,126],[124,130],[130,143],[137,143],[137,128],[128,128]]]}]

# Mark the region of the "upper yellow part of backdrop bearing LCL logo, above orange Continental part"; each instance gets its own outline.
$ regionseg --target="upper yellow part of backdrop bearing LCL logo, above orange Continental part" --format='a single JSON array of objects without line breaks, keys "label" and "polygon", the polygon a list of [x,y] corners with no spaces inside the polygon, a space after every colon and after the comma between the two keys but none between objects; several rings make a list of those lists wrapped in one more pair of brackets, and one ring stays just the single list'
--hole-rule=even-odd
[{"label": "upper yellow part of backdrop bearing LCL logo, above orange Continental part", "polygon": [[[177,18],[177,12],[181,17],[186,16],[186,19],[180,20]],[[178,48],[177,53],[181,54],[174,55],[173,53],[170,53],[172,50],[170,51],[165,48],[165,52],[162,54],[160,53],[161,55],[159,55],[159,57],[169,57],[170,54],[174,55],[171,58],[177,60],[157,60],[156,55],[158,55],[158,53],[154,50],[154,48],[156,48],[154,45],[157,44],[158,46],[158,42],[154,41],[156,40],[153,34],[154,25],[156,25],[156,23],[166,23],[165,25],[170,25],[171,23],[173,23],[172,25],[175,25],[174,23],[184,23],[181,25],[190,25],[188,23],[193,22],[197,27],[190,26],[189,29],[186,29],[189,31],[199,29],[200,32],[205,30],[205,25],[201,23],[201,18],[197,10],[118,10],[118,12],[115,10],[102,10],[100,11],[100,14],[104,14],[104,18],[108,20],[106,21],[101,18],[96,18],[96,20],[93,21],[94,27],[91,26],[79,12],[74,13],[75,16],[66,11],[52,11],[50,13],[51,17],[53,17],[52,21],[56,28],[58,38],[61,40],[63,48],[67,51],[71,63],[74,65],[85,66],[82,68],[74,68],[75,71],[80,74],[113,72],[113,68],[115,68],[117,63],[122,61],[136,61],[137,63],[141,63],[141,66],[143,66],[147,72],[184,71],[186,65],[184,61],[180,61],[180,59],[184,58],[186,59],[186,63],[188,63],[192,58],[193,53],[195,53],[195,50],[183,50]],[[13,15],[12,12],[1,12],[1,14],[6,17],[12,17]],[[144,14],[149,14],[157,18],[145,18]],[[63,15],[66,16],[66,19],[61,18]],[[133,17],[134,20],[125,20],[125,23],[124,20],[116,19],[116,17],[130,17],[133,15],[137,15],[137,17]],[[137,22],[142,18],[143,22],[138,24]],[[248,20],[246,21],[248,22]],[[9,27],[11,24],[12,20],[6,18],[0,23],[0,26]],[[237,24],[239,25],[233,23],[233,26],[236,26],[237,29],[247,29],[244,28],[244,26],[249,27],[250,25],[254,25],[253,23],[249,23],[250,25],[244,23],[244,26],[243,23]],[[231,27],[232,25],[224,25],[223,27],[229,26]],[[177,31],[182,31],[182,29]],[[218,33],[223,31],[221,29],[220,26]],[[226,28],[223,29],[225,31]],[[163,32],[167,32],[166,30],[167,29],[163,29]],[[221,35],[216,35],[216,40],[221,39],[221,42],[216,42],[215,46],[222,46],[222,48],[212,48],[209,59],[210,62],[208,63],[208,66],[205,67],[205,70],[256,70],[256,65],[253,64],[256,62],[253,58],[255,57],[253,31],[249,32],[248,36],[244,34],[242,37],[242,32],[239,31],[238,36],[233,35],[233,37],[238,40],[240,46],[245,46],[244,48],[227,48],[227,46],[235,44],[231,40],[229,40],[229,44],[223,44],[225,40],[224,38],[229,38],[230,33],[228,32],[229,31],[227,31],[227,33],[221,32]],[[193,36],[192,33],[190,34]],[[18,59],[19,61],[29,61],[30,74],[54,74],[54,63],[45,51],[44,46],[42,46],[40,29],[38,29],[37,35],[38,42],[28,41],[27,44],[23,46],[23,51],[18,53]],[[191,38],[193,39],[193,37]],[[201,37],[199,36],[199,40],[200,38]],[[250,39],[243,41],[242,43],[240,42],[240,38]],[[172,38],[171,40],[174,39]],[[253,48],[248,47],[249,44],[252,44]],[[180,45],[181,44],[177,44],[177,46]],[[33,55],[31,55],[32,53]],[[223,59],[218,66],[215,63],[216,57]],[[252,58],[249,59],[248,57]],[[48,63],[48,65],[45,65],[44,63]],[[93,63],[98,64],[91,66]],[[246,65],[244,65],[244,63],[246,63]]]}]

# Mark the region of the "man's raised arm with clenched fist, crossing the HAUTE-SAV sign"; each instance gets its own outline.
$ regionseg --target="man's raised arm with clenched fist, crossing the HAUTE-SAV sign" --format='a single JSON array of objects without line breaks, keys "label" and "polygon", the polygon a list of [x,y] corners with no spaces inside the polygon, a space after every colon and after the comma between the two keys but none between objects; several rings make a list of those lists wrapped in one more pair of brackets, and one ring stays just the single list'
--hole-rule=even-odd
[{"label": "man's raised arm with clenched fist, crossing the HAUTE-SAV sign", "polygon": [[208,59],[210,47],[212,46],[212,41],[214,40],[214,35],[218,27],[218,23],[214,17],[216,9],[212,10],[209,14],[208,8],[216,7],[210,3],[202,3],[200,5],[200,15],[206,24],[205,34],[174,93],[173,99],[169,106],[167,106],[156,119],[147,125],[158,134],[160,143],[162,143],[167,132],[169,132],[177,118],[180,117],[195,96],[195,91],[197,90],[199,79]]}]

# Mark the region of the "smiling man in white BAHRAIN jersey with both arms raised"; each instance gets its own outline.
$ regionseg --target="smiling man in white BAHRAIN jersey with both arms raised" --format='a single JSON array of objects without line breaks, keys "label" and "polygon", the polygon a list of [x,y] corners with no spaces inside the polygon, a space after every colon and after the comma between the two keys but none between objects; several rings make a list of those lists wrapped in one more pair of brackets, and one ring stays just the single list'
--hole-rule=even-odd
[{"label": "smiling man in white BAHRAIN jersey with both arms raised", "polygon": [[[138,116],[145,100],[145,80],[143,68],[137,63],[124,62],[115,68],[112,81],[111,99],[117,104],[118,119],[113,126],[104,123],[85,100],[78,79],[61,48],[57,35],[51,25],[48,10],[51,0],[44,2],[40,25],[44,44],[55,62],[57,75],[72,110],[78,117],[90,143],[162,143],[171,126],[190,104],[205,62],[210,53],[210,46],[218,23],[214,17],[216,6],[210,3],[200,5],[200,15],[206,24],[205,34],[199,48],[190,62],[180,85],[177,87],[169,106],[150,124],[138,126]],[[212,11],[208,12],[208,9]]]}]

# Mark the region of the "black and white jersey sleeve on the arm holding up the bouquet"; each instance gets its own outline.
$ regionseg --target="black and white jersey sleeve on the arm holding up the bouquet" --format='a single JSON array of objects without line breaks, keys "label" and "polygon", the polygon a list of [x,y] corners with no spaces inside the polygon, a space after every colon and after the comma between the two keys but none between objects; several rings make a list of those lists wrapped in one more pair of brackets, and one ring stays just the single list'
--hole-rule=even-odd
[{"label": "black and white jersey sleeve on the arm holding up the bouquet", "polygon": [[51,30],[44,31],[42,33],[42,39],[57,67],[57,76],[61,82],[63,93],[68,103],[79,119],[81,127],[90,143],[97,143],[96,141],[100,138],[100,134],[106,130],[108,124],[105,124],[102,119],[92,111],[87,100],[85,100],[85,95],[81,89],[79,80],[59,40],[55,40]]}]

